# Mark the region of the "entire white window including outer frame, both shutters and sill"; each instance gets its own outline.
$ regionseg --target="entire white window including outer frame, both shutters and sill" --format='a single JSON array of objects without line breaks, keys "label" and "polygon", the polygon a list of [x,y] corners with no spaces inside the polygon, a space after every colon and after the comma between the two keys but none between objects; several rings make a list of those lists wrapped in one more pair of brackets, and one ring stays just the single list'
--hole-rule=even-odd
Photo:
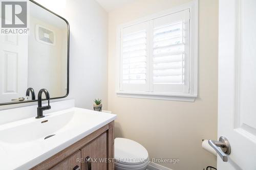
[{"label": "entire white window including outer frame, both shutters and sill", "polygon": [[118,28],[120,96],[195,101],[196,3]]}]

